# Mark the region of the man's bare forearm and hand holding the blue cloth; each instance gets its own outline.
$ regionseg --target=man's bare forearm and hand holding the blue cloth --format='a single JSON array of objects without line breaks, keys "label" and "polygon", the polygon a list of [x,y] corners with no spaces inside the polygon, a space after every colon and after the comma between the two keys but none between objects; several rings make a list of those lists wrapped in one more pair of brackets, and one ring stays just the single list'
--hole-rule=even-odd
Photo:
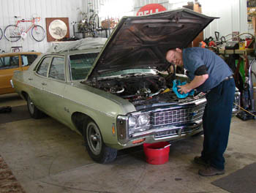
[{"label": "man's bare forearm and hand holding the blue cloth", "polygon": [[202,85],[207,79],[208,79],[208,74],[195,76],[195,78],[190,83],[187,83],[183,86],[177,86],[179,88],[178,91],[180,91],[181,94],[183,93],[186,94],[192,89]]}]

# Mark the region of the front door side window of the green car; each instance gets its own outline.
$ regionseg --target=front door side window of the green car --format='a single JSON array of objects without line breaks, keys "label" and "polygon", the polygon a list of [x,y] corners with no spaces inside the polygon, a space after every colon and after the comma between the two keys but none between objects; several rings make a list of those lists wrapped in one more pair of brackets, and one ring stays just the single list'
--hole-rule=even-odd
[{"label": "front door side window of the green car", "polygon": [[53,58],[52,64],[50,65],[49,77],[57,80],[65,80],[64,66],[64,58]]}]

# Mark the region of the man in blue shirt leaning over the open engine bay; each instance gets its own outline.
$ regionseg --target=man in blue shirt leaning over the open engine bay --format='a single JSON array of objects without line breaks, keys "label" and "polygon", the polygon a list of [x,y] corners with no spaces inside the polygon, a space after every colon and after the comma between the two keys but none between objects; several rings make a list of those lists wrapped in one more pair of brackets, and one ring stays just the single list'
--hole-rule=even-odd
[{"label": "man in blue shirt leaning over the open engine bay", "polygon": [[203,151],[201,156],[194,158],[197,164],[205,165],[206,169],[198,173],[203,176],[224,174],[223,154],[227,148],[235,94],[232,70],[222,58],[206,48],[168,50],[166,59],[187,69],[187,75],[192,80],[184,86],[178,86],[181,94],[194,88],[206,93]]}]

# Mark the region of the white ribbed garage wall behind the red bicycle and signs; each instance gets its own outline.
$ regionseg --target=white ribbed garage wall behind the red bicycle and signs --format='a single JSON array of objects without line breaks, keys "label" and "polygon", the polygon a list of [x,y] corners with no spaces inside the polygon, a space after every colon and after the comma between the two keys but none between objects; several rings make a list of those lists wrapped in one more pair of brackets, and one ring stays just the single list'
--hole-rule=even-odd
[{"label": "white ribbed garage wall behind the red bicycle and signs", "polygon": [[[246,1],[245,0],[199,0],[205,15],[220,17],[214,20],[205,30],[205,37],[214,37],[214,31],[220,32],[220,37],[232,31],[246,32]],[[176,9],[187,4],[182,0],[1,0],[0,1],[0,28],[4,31],[9,24],[15,23],[14,15],[29,19],[39,15],[42,20],[39,25],[45,26],[45,18],[69,18],[69,34],[73,36],[72,21],[81,20],[80,12],[87,12],[88,4],[99,13],[100,19],[121,18],[123,15],[135,15],[140,7],[146,4],[158,3],[167,10]],[[110,6],[108,6],[110,5]],[[120,8],[121,7],[121,8]],[[102,12],[104,10],[104,12]],[[30,32],[30,31],[29,31]],[[252,30],[250,31],[252,32]],[[79,35],[79,34],[77,34]],[[81,35],[81,34],[80,34]],[[102,35],[104,37],[104,35]],[[10,51],[11,46],[22,45],[23,50],[45,52],[51,45],[45,38],[42,42],[31,39],[31,35],[24,40],[10,43],[4,37],[0,40],[0,49]]]}]

